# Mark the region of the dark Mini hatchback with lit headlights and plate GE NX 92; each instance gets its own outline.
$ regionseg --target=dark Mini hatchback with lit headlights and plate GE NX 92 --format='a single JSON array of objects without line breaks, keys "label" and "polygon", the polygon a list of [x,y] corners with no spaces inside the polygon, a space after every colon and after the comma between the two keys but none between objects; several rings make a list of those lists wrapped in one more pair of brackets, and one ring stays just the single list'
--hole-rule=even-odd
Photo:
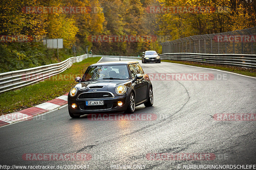
[{"label": "dark Mini hatchback with lit headlights and plate GE NX 92", "polygon": [[136,106],[153,105],[153,87],[147,74],[135,61],[116,61],[90,65],[83,78],[68,94],[70,117],[103,112],[127,111]]}]

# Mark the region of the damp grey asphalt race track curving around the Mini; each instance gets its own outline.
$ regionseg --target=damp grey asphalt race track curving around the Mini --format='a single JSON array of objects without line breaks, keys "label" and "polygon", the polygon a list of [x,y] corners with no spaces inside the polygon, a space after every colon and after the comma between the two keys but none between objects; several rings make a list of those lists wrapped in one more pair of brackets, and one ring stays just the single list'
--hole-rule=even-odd
[{"label": "damp grey asphalt race track curving around the Mini", "polygon": [[[103,58],[101,62],[116,60]],[[205,73],[221,80],[151,80],[154,121],[71,119],[68,108],[0,128],[0,165],[114,165],[178,169],[181,165],[256,163],[256,122],[216,121],[214,114],[255,114],[256,79],[173,63],[140,64],[146,73]],[[89,153],[88,161],[25,161],[24,153]],[[148,153],[212,153],[213,160],[148,160]],[[135,165],[135,166],[134,166]],[[74,169],[74,168],[73,168]]]}]

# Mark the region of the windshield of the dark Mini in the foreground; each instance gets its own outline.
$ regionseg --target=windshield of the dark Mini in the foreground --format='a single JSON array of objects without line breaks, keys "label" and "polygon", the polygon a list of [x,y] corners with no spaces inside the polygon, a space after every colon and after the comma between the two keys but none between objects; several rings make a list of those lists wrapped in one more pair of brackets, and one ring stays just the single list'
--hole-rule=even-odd
[{"label": "windshield of the dark Mini in the foreground", "polygon": [[82,81],[104,79],[129,79],[127,65],[91,66],[85,71]]}]

